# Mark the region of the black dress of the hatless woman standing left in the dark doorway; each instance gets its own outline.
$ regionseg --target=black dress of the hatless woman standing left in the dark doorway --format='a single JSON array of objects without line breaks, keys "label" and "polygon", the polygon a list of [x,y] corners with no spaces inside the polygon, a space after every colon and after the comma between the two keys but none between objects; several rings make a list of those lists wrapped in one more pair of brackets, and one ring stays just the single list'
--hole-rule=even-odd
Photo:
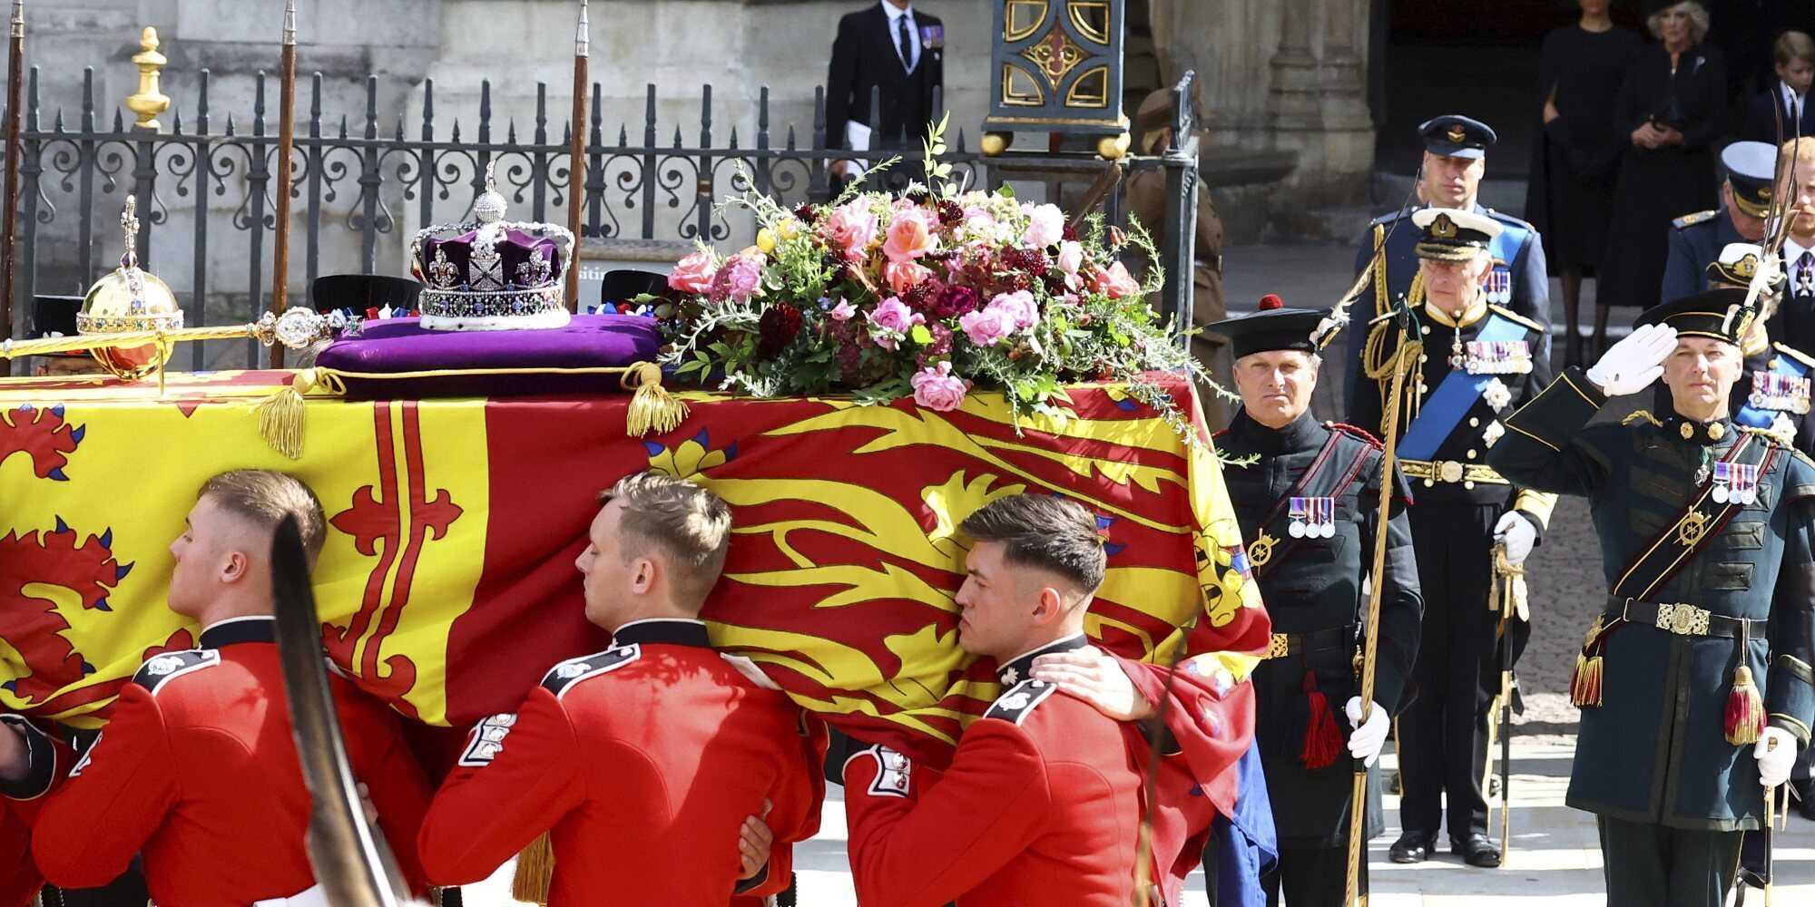
[{"label": "black dress of the hatless woman standing left in the dark doorway", "polygon": [[1541,125],[1532,147],[1525,216],[1545,236],[1550,274],[1594,274],[1614,216],[1614,171],[1630,132],[1615,127],[1614,103],[1639,36],[1610,27],[1566,25],[1539,51],[1537,107],[1557,91],[1557,118]]}]

